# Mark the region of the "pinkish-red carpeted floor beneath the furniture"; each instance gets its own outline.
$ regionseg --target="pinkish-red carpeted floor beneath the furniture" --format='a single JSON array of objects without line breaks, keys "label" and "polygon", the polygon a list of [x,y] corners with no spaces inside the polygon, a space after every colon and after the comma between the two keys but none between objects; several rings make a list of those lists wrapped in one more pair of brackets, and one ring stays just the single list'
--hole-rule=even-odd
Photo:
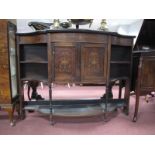
[{"label": "pinkish-red carpeted floor beneath the furniture", "polygon": [[[25,88],[26,90],[27,88]],[[39,93],[47,97],[44,89]],[[54,86],[53,98],[98,98],[104,93],[103,86]],[[118,88],[113,89],[114,97],[118,95]],[[25,94],[25,98],[26,98]],[[140,98],[138,121],[132,122],[134,113],[135,96],[130,97],[130,113],[125,115],[120,109],[108,116],[108,121],[103,121],[101,116],[86,119],[82,122],[77,119],[55,118],[56,124],[51,126],[49,116],[38,112],[26,113],[26,119],[18,120],[16,126],[9,126],[8,116],[0,111],[0,134],[1,135],[154,135],[155,134],[155,98]]]}]

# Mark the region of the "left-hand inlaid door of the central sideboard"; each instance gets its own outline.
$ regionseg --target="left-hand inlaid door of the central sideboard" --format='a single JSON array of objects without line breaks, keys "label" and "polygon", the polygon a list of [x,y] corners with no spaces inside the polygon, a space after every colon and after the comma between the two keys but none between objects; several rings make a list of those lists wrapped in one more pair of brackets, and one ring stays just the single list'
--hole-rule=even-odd
[{"label": "left-hand inlaid door of the central sideboard", "polygon": [[74,82],[76,46],[72,43],[54,44],[54,81]]}]

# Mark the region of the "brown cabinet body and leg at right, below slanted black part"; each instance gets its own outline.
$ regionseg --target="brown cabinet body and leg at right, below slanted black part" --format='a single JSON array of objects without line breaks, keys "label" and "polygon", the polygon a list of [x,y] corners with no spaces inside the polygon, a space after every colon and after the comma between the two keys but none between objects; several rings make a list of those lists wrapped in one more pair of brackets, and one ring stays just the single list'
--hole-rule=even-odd
[{"label": "brown cabinet body and leg at right, below slanted black part", "polygon": [[[138,63],[138,65],[137,65]],[[137,121],[139,109],[139,97],[155,91],[155,51],[134,52],[133,64],[133,90],[136,93],[136,104],[133,121]],[[134,82],[135,81],[135,82]]]}]

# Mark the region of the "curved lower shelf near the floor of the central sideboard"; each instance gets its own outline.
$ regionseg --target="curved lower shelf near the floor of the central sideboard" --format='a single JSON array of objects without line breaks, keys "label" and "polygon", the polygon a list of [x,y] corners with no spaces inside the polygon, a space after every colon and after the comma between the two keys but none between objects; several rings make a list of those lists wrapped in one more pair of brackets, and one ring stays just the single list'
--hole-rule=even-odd
[{"label": "curved lower shelf near the floor of the central sideboard", "polygon": [[86,100],[54,100],[51,101],[26,101],[25,110],[35,110],[43,114],[62,117],[84,117],[101,115],[112,112],[116,108],[125,106],[125,100],[112,99],[107,103],[102,99]]}]

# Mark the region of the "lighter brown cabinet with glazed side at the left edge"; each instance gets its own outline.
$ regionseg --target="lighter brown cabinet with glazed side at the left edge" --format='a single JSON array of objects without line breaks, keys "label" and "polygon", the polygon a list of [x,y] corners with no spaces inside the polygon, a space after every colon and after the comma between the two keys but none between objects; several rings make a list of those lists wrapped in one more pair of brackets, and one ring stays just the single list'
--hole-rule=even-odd
[{"label": "lighter brown cabinet with glazed side at the left edge", "polygon": [[13,112],[18,102],[16,26],[0,20],[0,108],[9,114],[13,125]]}]

